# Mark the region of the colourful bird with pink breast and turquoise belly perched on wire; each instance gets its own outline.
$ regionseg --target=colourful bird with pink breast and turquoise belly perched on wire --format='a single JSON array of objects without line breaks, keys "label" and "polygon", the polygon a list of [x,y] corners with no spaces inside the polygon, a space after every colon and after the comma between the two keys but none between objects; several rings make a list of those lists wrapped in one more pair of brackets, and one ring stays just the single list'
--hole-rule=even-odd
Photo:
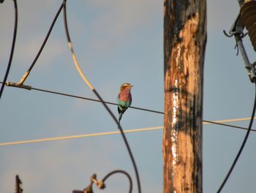
[{"label": "colourful bird with pink breast and turquoise belly perched on wire", "polygon": [[116,102],[117,102],[117,110],[118,110],[118,127],[121,121],[121,117],[123,116],[124,112],[127,110],[127,108],[132,105],[132,94],[131,94],[131,88],[133,85],[130,83],[123,83],[120,87],[120,92],[117,96]]}]

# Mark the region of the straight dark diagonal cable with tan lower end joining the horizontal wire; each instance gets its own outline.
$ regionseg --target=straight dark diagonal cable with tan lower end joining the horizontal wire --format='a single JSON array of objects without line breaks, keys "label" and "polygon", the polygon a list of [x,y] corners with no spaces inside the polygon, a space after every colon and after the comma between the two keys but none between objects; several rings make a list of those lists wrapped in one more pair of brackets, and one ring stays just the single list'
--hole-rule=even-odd
[{"label": "straight dark diagonal cable with tan lower end joining the horizontal wire", "polygon": [[56,13],[56,15],[55,15],[55,17],[54,17],[54,19],[53,19],[53,22],[52,22],[51,25],[50,25],[50,29],[48,30],[48,33],[46,34],[46,37],[45,37],[44,42],[42,42],[41,48],[39,49],[39,51],[38,51],[38,53],[37,53],[37,56],[34,58],[34,61],[32,62],[32,64],[31,64],[31,66],[29,67],[29,69],[25,72],[25,74],[23,75],[23,77],[21,77],[21,80],[20,80],[20,82],[19,82],[20,85],[22,85],[22,84],[25,82],[26,78],[29,76],[29,73],[31,72],[31,69],[34,67],[34,64],[36,64],[37,59],[39,58],[40,54],[42,53],[42,50],[45,48],[45,44],[46,44],[46,42],[48,41],[48,38],[50,37],[50,32],[52,31],[53,26],[55,25],[56,20],[57,20],[57,18],[59,17],[59,14],[60,14],[62,8],[63,8],[63,3],[61,4],[61,7],[59,7],[58,12]]}]

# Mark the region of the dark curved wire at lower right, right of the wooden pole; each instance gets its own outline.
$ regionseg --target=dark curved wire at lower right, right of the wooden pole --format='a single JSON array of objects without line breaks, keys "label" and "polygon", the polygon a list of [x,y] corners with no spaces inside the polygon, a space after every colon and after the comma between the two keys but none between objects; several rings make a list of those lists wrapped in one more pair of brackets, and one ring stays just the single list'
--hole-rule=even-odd
[{"label": "dark curved wire at lower right, right of the wooden pole", "polygon": [[232,171],[233,171],[233,169],[234,169],[234,167],[236,165],[236,162],[238,161],[238,158],[239,158],[239,156],[241,155],[241,153],[242,153],[242,151],[244,149],[244,145],[246,144],[246,141],[247,141],[247,139],[249,137],[249,132],[252,129],[252,124],[253,124],[253,120],[254,120],[254,117],[255,117],[255,108],[256,108],[256,83],[255,83],[255,104],[253,105],[252,118],[251,118],[251,121],[249,122],[248,130],[247,130],[246,135],[244,137],[244,141],[243,141],[243,143],[241,145],[241,148],[239,149],[238,154],[236,155],[236,159],[234,159],[233,164],[231,165],[230,170],[228,171],[224,181],[222,181],[222,185],[219,187],[217,193],[222,191],[222,188],[225,186],[225,183],[227,182],[227,179],[230,177],[230,174],[232,173]]}]

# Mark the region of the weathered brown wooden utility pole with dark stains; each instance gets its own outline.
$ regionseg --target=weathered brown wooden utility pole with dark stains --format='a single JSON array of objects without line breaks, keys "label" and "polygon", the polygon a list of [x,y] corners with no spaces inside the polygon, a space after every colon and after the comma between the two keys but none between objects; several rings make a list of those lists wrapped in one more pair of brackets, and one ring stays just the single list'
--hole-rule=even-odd
[{"label": "weathered brown wooden utility pole with dark stains", "polygon": [[203,192],[206,0],[164,0],[164,192]]}]

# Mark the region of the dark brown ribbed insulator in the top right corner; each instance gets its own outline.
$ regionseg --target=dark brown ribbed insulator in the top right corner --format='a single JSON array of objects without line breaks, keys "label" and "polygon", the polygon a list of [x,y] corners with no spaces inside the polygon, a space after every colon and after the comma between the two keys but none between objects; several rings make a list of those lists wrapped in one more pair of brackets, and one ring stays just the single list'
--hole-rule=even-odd
[{"label": "dark brown ribbed insulator in the top right corner", "polygon": [[240,10],[241,21],[246,27],[252,47],[256,51],[256,1],[246,2]]}]

